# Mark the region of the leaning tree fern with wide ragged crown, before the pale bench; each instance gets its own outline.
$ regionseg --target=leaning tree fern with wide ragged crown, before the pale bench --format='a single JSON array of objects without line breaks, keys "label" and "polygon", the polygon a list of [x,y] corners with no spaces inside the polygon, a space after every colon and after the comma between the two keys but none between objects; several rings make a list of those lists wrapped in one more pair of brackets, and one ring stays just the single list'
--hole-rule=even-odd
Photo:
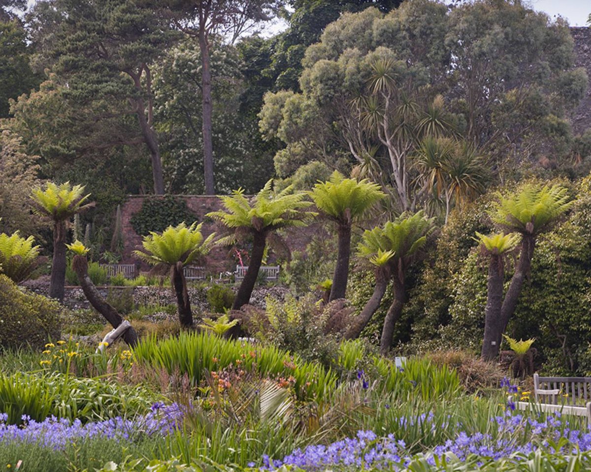
[{"label": "leaning tree fern with wide ragged crown, before the pale bench", "polygon": [[[316,215],[302,211],[311,205],[311,202],[304,200],[306,194],[293,193],[291,185],[275,194],[272,183],[272,179],[265,183],[252,200],[244,196],[242,189],[233,191],[232,195],[220,196],[225,210],[207,214],[226,227],[226,234],[217,241],[218,244],[235,244],[246,237],[252,237],[251,261],[234,299],[233,310],[240,309],[251,299],[269,235],[281,228],[305,226],[306,220]],[[235,330],[232,331],[234,332]]]}]

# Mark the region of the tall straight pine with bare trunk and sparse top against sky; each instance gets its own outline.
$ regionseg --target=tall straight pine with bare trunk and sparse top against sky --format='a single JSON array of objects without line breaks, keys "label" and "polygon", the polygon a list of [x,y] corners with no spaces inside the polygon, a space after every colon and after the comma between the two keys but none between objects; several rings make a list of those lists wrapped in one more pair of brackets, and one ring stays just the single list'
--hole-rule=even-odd
[{"label": "tall straight pine with bare trunk and sparse top against sky", "polygon": [[253,25],[266,21],[281,0],[167,0],[165,4],[180,31],[199,41],[201,60],[204,186],[213,195],[213,99],[211,47],[215,35],[229,35],[232,42]]}]

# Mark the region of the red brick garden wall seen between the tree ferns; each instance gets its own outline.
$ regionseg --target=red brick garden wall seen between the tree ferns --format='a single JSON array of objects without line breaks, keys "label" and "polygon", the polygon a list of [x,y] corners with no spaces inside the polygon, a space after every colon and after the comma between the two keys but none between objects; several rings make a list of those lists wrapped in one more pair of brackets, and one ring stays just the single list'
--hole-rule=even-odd
[{"label": "red brick garden wall seen between the tree ferns", "polygon": [[[219,232],[219,223],[210,221],[205,218],[205,215],[210,211],[217,211],[222,208],[220,199],[217,196],[206,195],[177,195],[178,198],[183,198],[187,202],[187,207],[196,214],[198,222],[203,222],[203,235],[207,237],[212,232]],[[121,217],[124,232],[124,264],[136,263],[132,251],[141,246],[142,238],[138,235],[131,225],[131,217],[137,213],[144,202],[145,198],[155,198],[153,195],[129,195],[127,201],[121,208]],[[285,241],[287,242],[290,251],[304,250],[311,235],[319,230],[318,224],[313,224],[310,227],[304,228],[290,228],[285,233]],[[271,259],[272,261],[272,259]],[[232,248],[216,247],[206,258],[207,271],[211,274],[219,273],[220,271],[232,270],[235,268],[236,261],[233,257]],[[142,265],[147,268],[147,266]]]}]

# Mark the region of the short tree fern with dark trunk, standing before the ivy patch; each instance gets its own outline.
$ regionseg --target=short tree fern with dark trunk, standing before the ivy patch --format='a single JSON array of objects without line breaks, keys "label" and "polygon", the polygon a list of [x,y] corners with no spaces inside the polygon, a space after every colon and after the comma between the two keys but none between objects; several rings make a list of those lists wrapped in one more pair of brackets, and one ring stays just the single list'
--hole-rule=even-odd
[{"label": "short tree fern with dark trunk, standing before the ivy patch", "polygon": [[162,233],[150,232],[144,236],[142,250],[134,255],[152,266],[170,268],[170,280],[177,297],[178,320],[184,327],[193,326],[191,301],[183,268],[196,258],[209,252],[215,234],[203,238],[201,225],[196,222],[187,227],[181,223],[169,226]]}]

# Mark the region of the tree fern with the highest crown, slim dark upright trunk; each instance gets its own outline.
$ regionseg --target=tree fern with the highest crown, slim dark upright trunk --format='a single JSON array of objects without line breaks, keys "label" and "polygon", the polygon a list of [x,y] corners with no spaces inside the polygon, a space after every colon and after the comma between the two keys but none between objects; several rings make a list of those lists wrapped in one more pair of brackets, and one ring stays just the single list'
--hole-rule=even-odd
[{"label": "tree fern with the highest crown, slim dark upright trunk", "polygon": [[346,179],[335,171],[326,182],[319,182],[310,196],[323,217],[335,222],[339,250],[329,301],[345,298],[351,256],[351,228],[366,212],[385,196],[379,185],[367,179]]}]

